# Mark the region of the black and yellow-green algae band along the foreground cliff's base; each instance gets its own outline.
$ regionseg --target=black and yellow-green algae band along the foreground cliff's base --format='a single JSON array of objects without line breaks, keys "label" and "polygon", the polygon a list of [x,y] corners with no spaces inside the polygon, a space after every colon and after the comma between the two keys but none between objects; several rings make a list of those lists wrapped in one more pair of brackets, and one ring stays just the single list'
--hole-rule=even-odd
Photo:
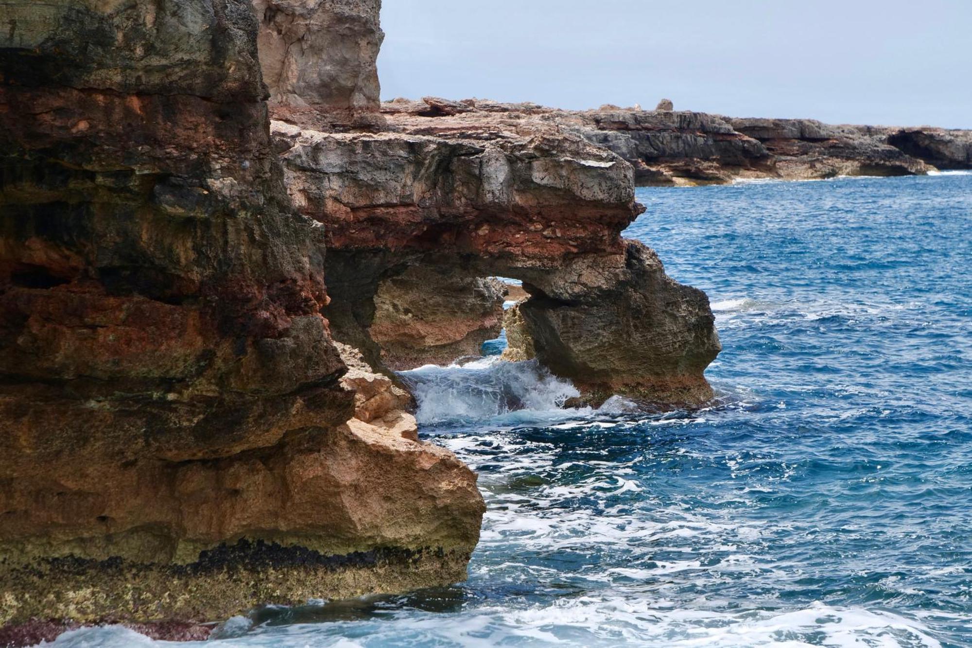
[{"label": "black and yellow-green algae band along the foreground cliff's base", "polygon": [[90,621],[138,620],[156,626],[154,633],[165,638],[163,624],[195,620],[194,632],[205,635],[212,624],[202,622],[260,603],[294,605],[320,593],[335,598],[398,593],[463,580],[468,561],[469,552],[441,548],[386,547],[326,556],[246,540],[202,552],[185,565],[48,558],[5,574],[5,600],[17,605],[6,614],[23,620],[17,624],[23,628],[0,630],[0,641],[6,636],[9,642],[31,626],[47,623],[65,630]]}]

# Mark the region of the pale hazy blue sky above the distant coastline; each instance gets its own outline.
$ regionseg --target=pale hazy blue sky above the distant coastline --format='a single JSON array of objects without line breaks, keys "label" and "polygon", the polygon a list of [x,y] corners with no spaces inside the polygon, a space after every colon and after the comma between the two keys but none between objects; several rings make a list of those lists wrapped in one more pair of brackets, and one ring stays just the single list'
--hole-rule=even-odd
[{"label": "pale hazy blue sky above the distant coastline", "polygon": [[972,0],[384,0],[382,97],[972,127]]}]

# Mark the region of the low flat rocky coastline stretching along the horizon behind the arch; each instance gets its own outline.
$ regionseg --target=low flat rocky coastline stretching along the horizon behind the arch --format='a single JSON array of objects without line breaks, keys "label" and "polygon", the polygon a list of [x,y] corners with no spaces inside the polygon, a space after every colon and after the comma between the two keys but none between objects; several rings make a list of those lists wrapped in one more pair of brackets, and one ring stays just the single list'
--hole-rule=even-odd
[{"label": "low flat rocky coastline stretching along the horizon behind the arch", "polygon": [[609,105],[569,111],[531,103],[427,97],[386,102],[382,110],[392,127],[402,115],[449,117],[460,124],[505,115],[524,123],[557,125],[630,162],[639,186],[724,184],[736,178],[915,175],[972,168],[969,130],[735,119],[674,111],[668,100],[652,111]]}]

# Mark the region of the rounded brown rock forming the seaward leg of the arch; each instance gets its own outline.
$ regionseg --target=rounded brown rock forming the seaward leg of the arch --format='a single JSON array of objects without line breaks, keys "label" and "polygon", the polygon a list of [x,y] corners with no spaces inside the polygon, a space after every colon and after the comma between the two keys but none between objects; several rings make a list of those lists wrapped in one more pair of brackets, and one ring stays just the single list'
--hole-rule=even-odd
[{"label": "rounded brown rock forming the seaward leg of the arch", "polygon": [[[513,348],[533,355],[554,374],[571,378],[589,403],[623,394],[645,405],[697,405],[712,399],[703,377],[721,350],[709,298],[665,274],[658,256],[638,241],[623,255],[580,258],[546,290],[518,306]],[[525,335],[524,335],[525,334]],[[507,332],[507,336],[508,336]]]}]

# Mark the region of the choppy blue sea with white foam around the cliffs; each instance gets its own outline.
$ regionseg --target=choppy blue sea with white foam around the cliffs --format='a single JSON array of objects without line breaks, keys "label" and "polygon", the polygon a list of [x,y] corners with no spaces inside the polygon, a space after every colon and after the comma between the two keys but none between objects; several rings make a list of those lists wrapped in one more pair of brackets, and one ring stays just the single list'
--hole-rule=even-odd
[{"label": "choppy blue sea with white foam around the cliffs", "polygon": [[972,176],[639,198],[626,235],[712,299],[716,402],[564,411],[530,363],[409,372],[425,438],[480,475],[469,582],[211,644],[972,645]]}]

